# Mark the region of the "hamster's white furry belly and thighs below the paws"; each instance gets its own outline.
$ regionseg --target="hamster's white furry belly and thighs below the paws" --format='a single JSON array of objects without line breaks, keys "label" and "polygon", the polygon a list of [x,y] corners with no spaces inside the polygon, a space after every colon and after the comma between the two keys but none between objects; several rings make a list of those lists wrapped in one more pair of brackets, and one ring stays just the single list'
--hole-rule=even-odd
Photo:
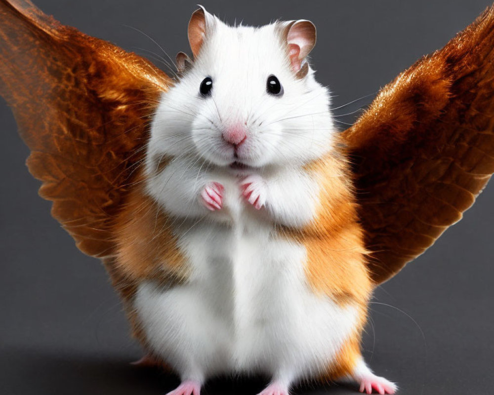
[{"label": "hamster's white furry belly and thighs below the paws", "polygon": [[134,307],[147,342],[186,379],[228,372],[301,378],[321,372],[357,310],[309,289],[305,248],[269,226],[202,224],[181,237],[191,276],[143,282]]}]

